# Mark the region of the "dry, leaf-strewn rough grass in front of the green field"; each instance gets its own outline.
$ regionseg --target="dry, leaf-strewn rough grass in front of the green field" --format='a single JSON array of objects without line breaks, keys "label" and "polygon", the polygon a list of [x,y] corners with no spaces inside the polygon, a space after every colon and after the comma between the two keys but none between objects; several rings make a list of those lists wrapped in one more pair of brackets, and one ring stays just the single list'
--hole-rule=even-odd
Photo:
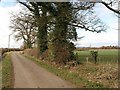
[{"label": "dry, leaf-strewn rough grass in front of the green field", "polygon": [[71,68],[71,71],[106,88],[118,88],[118,64],[85,63]]}]

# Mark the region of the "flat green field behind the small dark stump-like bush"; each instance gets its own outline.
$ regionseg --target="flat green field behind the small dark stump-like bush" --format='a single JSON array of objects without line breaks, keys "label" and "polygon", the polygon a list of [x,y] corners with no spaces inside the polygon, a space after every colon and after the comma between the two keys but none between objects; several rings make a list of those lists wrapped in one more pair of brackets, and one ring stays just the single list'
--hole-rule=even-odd
[{"label": "flat green field behind the small dark stump-like bush", "polygon": [[[83,63],[87,61],[94,62],[94,59],[90,53],[93,50],[87,51],[75,51],[78,55],[78,60]],[[99,49],[97,61],[98,63],[117,63],[118,62],[118,50],[117,49]]]}]

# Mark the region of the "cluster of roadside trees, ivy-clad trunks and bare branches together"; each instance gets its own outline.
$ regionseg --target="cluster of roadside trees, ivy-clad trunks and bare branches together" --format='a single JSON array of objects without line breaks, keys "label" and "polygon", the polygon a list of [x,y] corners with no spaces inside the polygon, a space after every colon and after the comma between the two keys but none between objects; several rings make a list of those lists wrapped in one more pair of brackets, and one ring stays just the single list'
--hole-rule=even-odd
[{"label": "cluster of roadside trees, ivy-clad trunks and bare branches together", "polygon": [[73,41],[78,38],[77,28],[97,33],[106,29],[94,13],[94,2],[17,1],[26,10],[12,15],[10,27],[16,40],[23,39],[25,48],[37,44],[42,58],[47,52],[57,63],[75,60]]}]

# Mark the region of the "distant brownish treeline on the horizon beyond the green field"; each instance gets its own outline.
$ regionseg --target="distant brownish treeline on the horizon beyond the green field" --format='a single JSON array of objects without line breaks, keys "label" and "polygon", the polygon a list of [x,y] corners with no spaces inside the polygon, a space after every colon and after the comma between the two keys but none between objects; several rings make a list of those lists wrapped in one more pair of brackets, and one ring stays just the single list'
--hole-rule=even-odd
[{"label": "distant brownish treeline on the horizon beyond the green field", "polygon": [[78,47],[76,50],[89,50],[89,49],[120,49],[118,46],[102,46],[102,47]]}]

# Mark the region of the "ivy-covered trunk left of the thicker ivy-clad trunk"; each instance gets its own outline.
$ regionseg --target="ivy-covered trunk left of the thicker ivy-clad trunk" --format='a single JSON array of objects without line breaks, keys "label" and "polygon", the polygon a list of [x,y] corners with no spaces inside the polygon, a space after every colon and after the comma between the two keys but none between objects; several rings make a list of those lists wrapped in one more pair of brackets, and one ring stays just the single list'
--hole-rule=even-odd
[{"label": "ivy-covered trunk left of the thicker ivy-clad trunk", "polygon": [[40,16],[39,8],[38,6],[35,6],[34,13],[36,17],[37,26],[38,26],[37,39],[38,39],[39,54],[42,55],[43,52],[48,49],[47,47],[47,18],[46,18],[47,11],[45,11],[43,7],[42,9],[43,14],[42,16]]}]

